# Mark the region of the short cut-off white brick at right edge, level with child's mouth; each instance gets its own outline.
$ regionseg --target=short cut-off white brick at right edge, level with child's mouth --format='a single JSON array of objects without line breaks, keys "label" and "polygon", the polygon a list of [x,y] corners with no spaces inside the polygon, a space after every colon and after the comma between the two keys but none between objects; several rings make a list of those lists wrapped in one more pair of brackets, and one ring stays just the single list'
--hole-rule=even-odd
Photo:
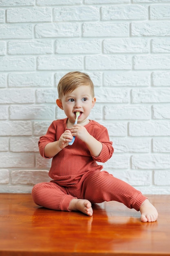
[{"label": "short cut-off white brick at right edge, level with child's mouth", "polygon": [[[167,101],[170,102],[170,101]],[[170,119],[170,103],[153,106],[154,119]]]}]

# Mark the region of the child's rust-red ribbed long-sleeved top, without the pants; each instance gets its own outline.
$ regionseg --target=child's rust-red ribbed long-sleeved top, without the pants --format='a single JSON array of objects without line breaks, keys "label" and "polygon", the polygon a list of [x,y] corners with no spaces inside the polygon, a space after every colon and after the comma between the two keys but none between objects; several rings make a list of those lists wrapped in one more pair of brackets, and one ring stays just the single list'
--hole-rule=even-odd
[{"label": "child's rust-red ribbed long-sleeved top, without the pants", "polygon": [[[53,121],[46,135],[40,137],[38,144],[43,157],[45,157],[44,147],[46,144],[59,140],[62,133],[68,130],[66,121],[67,118]],[[103,166],[98,165],[96,161],[104,163],[113,155],[112,142],[109,141],[107,129],[93,120],[90,120],[85,127],[90,135],[102,142],[102,151],[98,157],[93,157],[86,144],[75,137],[73,145],[63,148],[53,157],[51,163],[49,176],[62,186],[76,184],[84,173],[102,170]]]}]

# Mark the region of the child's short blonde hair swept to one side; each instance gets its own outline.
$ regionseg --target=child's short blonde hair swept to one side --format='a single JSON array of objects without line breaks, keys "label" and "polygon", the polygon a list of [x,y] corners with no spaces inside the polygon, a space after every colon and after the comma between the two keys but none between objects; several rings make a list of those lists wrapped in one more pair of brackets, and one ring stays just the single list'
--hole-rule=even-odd
[{"label": "child's short blonde hair swept to one side", "polygon": [[94,85],[88,74],[73,71],[63,76],[58,83],[58,97],[61,99],[67,92],[73,92],[80,85],[89,85],[91,87],[92,97],[95,96]]}]

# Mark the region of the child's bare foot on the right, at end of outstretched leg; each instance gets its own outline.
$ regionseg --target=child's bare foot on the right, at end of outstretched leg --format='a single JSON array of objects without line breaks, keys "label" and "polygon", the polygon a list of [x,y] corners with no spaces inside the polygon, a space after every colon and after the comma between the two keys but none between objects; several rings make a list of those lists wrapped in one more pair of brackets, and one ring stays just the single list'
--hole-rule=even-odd
[{"label": "child's bare foot on the right, at end of outstretched leg", "polygon": [[141,212],[141,222],[154,222],[158,218],[157,209],[146,199],[139,208]]}]

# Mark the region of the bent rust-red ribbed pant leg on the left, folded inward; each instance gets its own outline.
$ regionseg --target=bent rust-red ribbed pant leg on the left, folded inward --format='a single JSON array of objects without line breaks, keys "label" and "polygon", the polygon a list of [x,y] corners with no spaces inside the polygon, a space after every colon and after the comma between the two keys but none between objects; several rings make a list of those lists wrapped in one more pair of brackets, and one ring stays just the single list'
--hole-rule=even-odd
[{"label": "bent rust-red ribbed pant leg on the left, folded inward", "polygon": [[42,182],[32,189],[32,197],[35,204],[61,211],[69,211],[68,206],[75,197],[68,195],[64,187],[54,182]]}]

